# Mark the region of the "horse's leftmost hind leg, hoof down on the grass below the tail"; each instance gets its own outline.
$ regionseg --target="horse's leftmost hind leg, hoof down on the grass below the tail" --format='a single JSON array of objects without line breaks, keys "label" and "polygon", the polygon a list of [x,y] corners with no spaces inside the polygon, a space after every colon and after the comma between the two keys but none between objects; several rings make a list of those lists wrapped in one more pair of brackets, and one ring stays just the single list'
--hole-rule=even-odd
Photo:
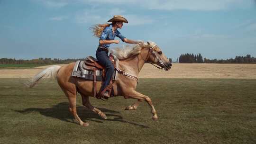
[{"label": "horse's leftmost hind leg, hoof down on the grass below the tail", "polygon": [[68,90],[64,90],[65,95],[68,97],[69,100],[69,111],[73,114],[74,118],[79,122],[81,126],[89,126],[88,123],[83,122],[80,117],[77,115],[76,112],[76,94],[71,93]]}]

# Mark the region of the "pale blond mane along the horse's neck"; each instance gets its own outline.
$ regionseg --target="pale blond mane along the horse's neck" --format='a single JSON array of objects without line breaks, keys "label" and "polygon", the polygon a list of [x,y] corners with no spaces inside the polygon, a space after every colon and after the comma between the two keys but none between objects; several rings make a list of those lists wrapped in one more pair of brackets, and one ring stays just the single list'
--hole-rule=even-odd
[{"label": "pale blond mane along the horse's neck", "polygon": [[110,50],[110,54],[114,55],[119,60],[125,60],[133,55],[139,54],[142,48],[154,46],[154,42],[141,42],[138,45],[125,45],[124,48],[114,48]]}]

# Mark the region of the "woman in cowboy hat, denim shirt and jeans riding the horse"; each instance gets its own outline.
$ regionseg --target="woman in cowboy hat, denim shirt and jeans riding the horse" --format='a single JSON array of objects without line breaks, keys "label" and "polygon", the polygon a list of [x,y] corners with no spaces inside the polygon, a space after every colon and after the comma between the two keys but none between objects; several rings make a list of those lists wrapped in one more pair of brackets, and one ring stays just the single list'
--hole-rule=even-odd
[{"label": "woman in cowboy hat, denim shirt and jeans riding the horse", "polygon": [[[121,33],[117,30],[122,28],[123,22],[128,23],[127,19],[116,15],[111,18],[108,22],[111,24],[97,25],[100,29],[97,29],[97,26],[94,27],[94,35],[100,37],[100,44],[96,51],[96,57],[98,62],[106,68],[106,75],[104,81],[102,81],[101,89],[98,95],[98,98],[110,98],[108,90],[111,89],[110,79],[114,73],[114,65],[111,63],[108,52],[110,44],[118,44],[119,40],[115,40],[115,36],[119,37],[123,42],[128,44],[138,44],[139,41],[134,41],[122,36]],[[97,29],[97,30],[96,30]],[[100,36],[97,34],[101,34]],[[107,87],[109,86],[109,87]]]}]

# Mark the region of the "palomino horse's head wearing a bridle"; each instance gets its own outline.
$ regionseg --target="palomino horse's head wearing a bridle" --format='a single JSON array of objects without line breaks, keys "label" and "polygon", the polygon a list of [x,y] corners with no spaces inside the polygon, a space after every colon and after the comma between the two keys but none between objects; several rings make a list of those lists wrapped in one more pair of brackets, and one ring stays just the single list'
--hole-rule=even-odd
[{"label": "palomino horse's head wearing a bridle", "polygon": [[165,69],[165,71],[171,69],[172,63],[154,42],[140,43],[139,45],[142,47],[142,50],[147,51],[145,59],[147,63],[157,64],[162,69]]}]

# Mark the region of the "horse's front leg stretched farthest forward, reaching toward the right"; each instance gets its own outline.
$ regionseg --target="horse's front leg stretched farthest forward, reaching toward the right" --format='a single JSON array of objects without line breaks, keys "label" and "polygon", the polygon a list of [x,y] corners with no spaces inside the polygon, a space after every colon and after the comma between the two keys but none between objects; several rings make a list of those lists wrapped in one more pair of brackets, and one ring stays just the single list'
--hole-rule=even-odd
[{"label": "horse's front leg stretched farthest forward, reaching toward the right", "polygon": [[129,92],[127,92],[124,97],[126,99],[138,99],[138,101],[141,101],[141,100],[145,100],[148,105],[151,107],[151,113],[152,113],[152,119],[153,120],[157,120],[158,117],[157,117],[157,114],[156,114],[156,111],[155,111],[155,107],[153,106],[152,104],[152,100],[148,97],[148,96],[145,96],[135,90],[130,90]]}]

